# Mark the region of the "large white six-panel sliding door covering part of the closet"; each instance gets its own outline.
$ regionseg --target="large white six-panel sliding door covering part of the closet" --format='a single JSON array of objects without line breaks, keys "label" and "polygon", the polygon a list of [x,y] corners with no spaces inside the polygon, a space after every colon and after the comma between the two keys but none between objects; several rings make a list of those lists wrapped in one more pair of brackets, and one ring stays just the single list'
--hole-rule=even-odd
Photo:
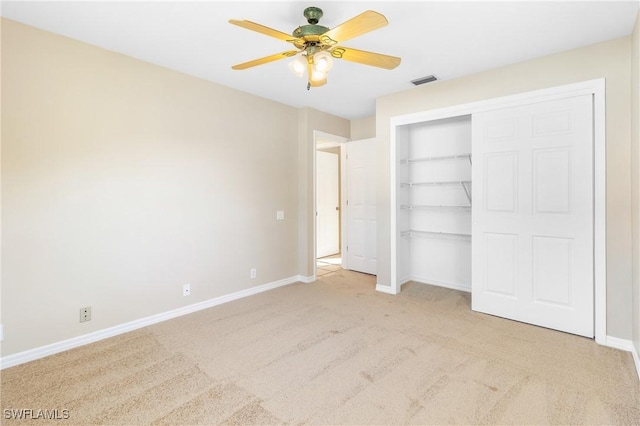
[{"label": "large white six-panel sliding door covering part of the closet", "polygon": [[592,96],[472,120],[473,310],[593,337]]}]

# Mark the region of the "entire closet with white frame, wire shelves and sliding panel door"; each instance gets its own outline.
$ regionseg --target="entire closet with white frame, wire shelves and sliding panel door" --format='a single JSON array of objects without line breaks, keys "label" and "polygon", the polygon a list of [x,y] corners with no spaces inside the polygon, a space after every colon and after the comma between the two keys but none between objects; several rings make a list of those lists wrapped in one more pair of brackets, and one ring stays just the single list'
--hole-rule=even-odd
[{"label": "entire closet with white frame, wire shelves and sliding panel door", "polygon": [[604,140],[603,80],[393,117],[390,292],[601,339]]}]

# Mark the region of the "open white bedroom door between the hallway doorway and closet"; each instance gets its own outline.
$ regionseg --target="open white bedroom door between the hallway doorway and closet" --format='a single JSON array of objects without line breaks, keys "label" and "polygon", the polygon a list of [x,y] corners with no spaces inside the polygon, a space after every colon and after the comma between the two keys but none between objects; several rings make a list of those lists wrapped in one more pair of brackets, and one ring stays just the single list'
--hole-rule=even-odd
[{"label": "open white bedroom door between the hallway doorway and closet", "polygon": [[351,141],[347,147],[347,267],[377,273],[376,140]]}]

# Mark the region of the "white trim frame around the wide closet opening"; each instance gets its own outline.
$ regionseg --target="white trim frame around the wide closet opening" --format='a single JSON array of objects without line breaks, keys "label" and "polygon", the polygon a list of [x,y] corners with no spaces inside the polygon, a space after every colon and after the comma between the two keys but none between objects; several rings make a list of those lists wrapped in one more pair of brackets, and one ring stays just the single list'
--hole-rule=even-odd
[{"label": "white trim frame around the wide closet opening", "polygon": [[[595,341],[607,345],[607,234],[606,234],[606,116],[605,79],[583,81],[548,89],[493,98],[452,107],[391,117],[390,119],[390,201],[391,201],[391,286],[379,291],[391,294],[400,292],[397,277],[397,217],[396,217],[396,128],[407,124],[439,120],[481,111],[509,108],[519,105],[545,102],[572,96],[590,94],[593,97],[593,191],[594,191],[594,332]],[[473,117],[472,117],[473,119]]]}]

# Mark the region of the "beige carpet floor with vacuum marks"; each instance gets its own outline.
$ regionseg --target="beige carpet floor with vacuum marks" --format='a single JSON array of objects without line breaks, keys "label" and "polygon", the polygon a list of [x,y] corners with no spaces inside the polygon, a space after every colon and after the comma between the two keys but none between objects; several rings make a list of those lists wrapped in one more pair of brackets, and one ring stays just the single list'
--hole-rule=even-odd
[{"label": "beige carpet floor with vacuum marks", "polygon": [[338,271],[3,370],[2,424],[640,424],[629,353],[374,288]]}]

